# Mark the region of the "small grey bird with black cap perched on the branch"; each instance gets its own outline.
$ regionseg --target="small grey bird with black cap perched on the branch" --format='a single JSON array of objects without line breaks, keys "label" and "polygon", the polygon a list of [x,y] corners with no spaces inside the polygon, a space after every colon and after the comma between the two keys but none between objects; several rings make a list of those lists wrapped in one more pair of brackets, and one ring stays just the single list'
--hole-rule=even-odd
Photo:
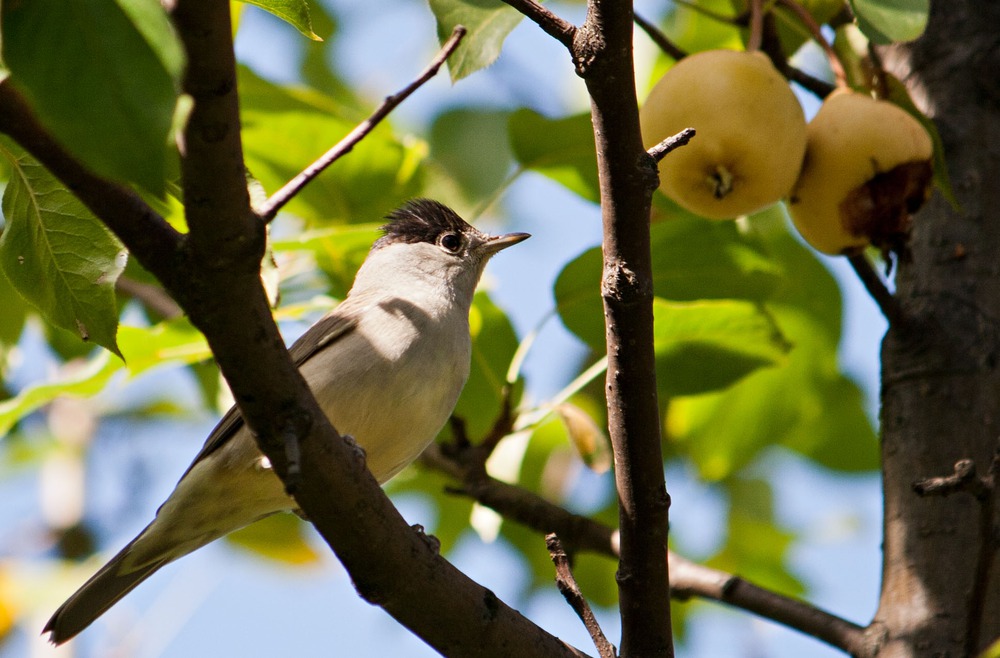
[{"label": "small grey bird with black cap perched on the branch", "polygon": [[[469,310],[487,261],[530,237],[488,235],[430,199],[390,212],[344,300],[289,353],[323,412],[385,483],[444,427],[469,376]],[[160,567],[295,501],[234,406],[153,521],[52,615],[62,644]]]}]

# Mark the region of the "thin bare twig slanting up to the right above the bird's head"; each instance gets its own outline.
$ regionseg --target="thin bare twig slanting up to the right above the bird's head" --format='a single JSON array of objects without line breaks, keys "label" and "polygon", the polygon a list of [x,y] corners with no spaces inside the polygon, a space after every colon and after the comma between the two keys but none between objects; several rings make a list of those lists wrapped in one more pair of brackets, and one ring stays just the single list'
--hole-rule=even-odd
[{"label": "thin bare twig slanting up to the right above the bird's head", "polygon": [[415,92],[424,83],[437,75],[438,71],[448,60],[455,49],[458,48],[458,44],[462,42],[462,38],[465,37],[466,29],[461,25],[456,25],[454,31],[452,31],[451,36],[448,41],[441,47],[438,54],[435,55],[434,59],[431,60],[430,65],[424,69],[417,79],[408,84],[406,87],[396,92],[392,96],[386,97],[382,104],[371,113],[371,115],[359,123],[354,130],[349,132],[347,136],[337,142],[333,148],[320,156],[315,162],[303,169],[295,178],[285,183],[284,187],[271,195],[271,197],[265,201],[260,208],[257,209],[257,214],[260,216],[264,222],[270,222],[274,219],[278,211],[286,203],[292,200],[292,198],[298,194],[303,187],[305,187],[311,180],[319,176],[327,167],[332,165],[334,162],[339,160],[341,157],[347,155],[351,152],[351,149],[357,145],[368,133],[370,133],[375,126],[377,126],[382,119],[387,117],[390,112],[392,112],[396,107],[406,100],[410,94]]}]

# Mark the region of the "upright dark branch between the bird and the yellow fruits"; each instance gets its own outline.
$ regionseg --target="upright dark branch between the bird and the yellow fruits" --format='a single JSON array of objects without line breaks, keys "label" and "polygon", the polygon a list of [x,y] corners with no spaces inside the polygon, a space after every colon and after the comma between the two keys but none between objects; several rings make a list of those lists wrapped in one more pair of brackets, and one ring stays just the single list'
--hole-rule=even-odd
[{"label": "upright dark branch between the bird and the yellow fruits", "polygon": [[653,355],[649,211],[658,179],[642,146],[632,5],[591,0],[573,59],[591,97],[604,224],[601,296],[608,345],[608,430],[615,456],[625,656],[672,656],[667,510]]}]

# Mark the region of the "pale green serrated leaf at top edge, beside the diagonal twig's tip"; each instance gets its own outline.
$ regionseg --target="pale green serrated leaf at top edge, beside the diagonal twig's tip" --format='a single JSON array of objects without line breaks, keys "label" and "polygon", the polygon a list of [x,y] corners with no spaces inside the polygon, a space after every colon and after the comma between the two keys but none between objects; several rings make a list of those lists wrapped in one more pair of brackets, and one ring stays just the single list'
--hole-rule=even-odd
[{"label": "pale green serrated leaf at top edge, beside the diagonal twig's tip", "polygon": [[437,19],[438,39],[443,44],[456,25],[468,32],[448,58],[452,82],[486,68],[500,56],[504,39],[523,15],[500,0],[430,0]]}]

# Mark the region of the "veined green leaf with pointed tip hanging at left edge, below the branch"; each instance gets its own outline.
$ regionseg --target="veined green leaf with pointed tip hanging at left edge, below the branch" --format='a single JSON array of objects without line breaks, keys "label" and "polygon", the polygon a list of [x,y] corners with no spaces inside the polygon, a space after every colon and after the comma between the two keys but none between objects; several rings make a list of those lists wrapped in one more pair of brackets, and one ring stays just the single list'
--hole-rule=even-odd
[{"label": "veined green leaf with pointed tip hanging at left edge, below the branch", "polygon": [[115,281],[127,254],[104,224],[30,156],[9,143],[3,195],[7,224],[0,269],[52,324],[115,354]]}]

